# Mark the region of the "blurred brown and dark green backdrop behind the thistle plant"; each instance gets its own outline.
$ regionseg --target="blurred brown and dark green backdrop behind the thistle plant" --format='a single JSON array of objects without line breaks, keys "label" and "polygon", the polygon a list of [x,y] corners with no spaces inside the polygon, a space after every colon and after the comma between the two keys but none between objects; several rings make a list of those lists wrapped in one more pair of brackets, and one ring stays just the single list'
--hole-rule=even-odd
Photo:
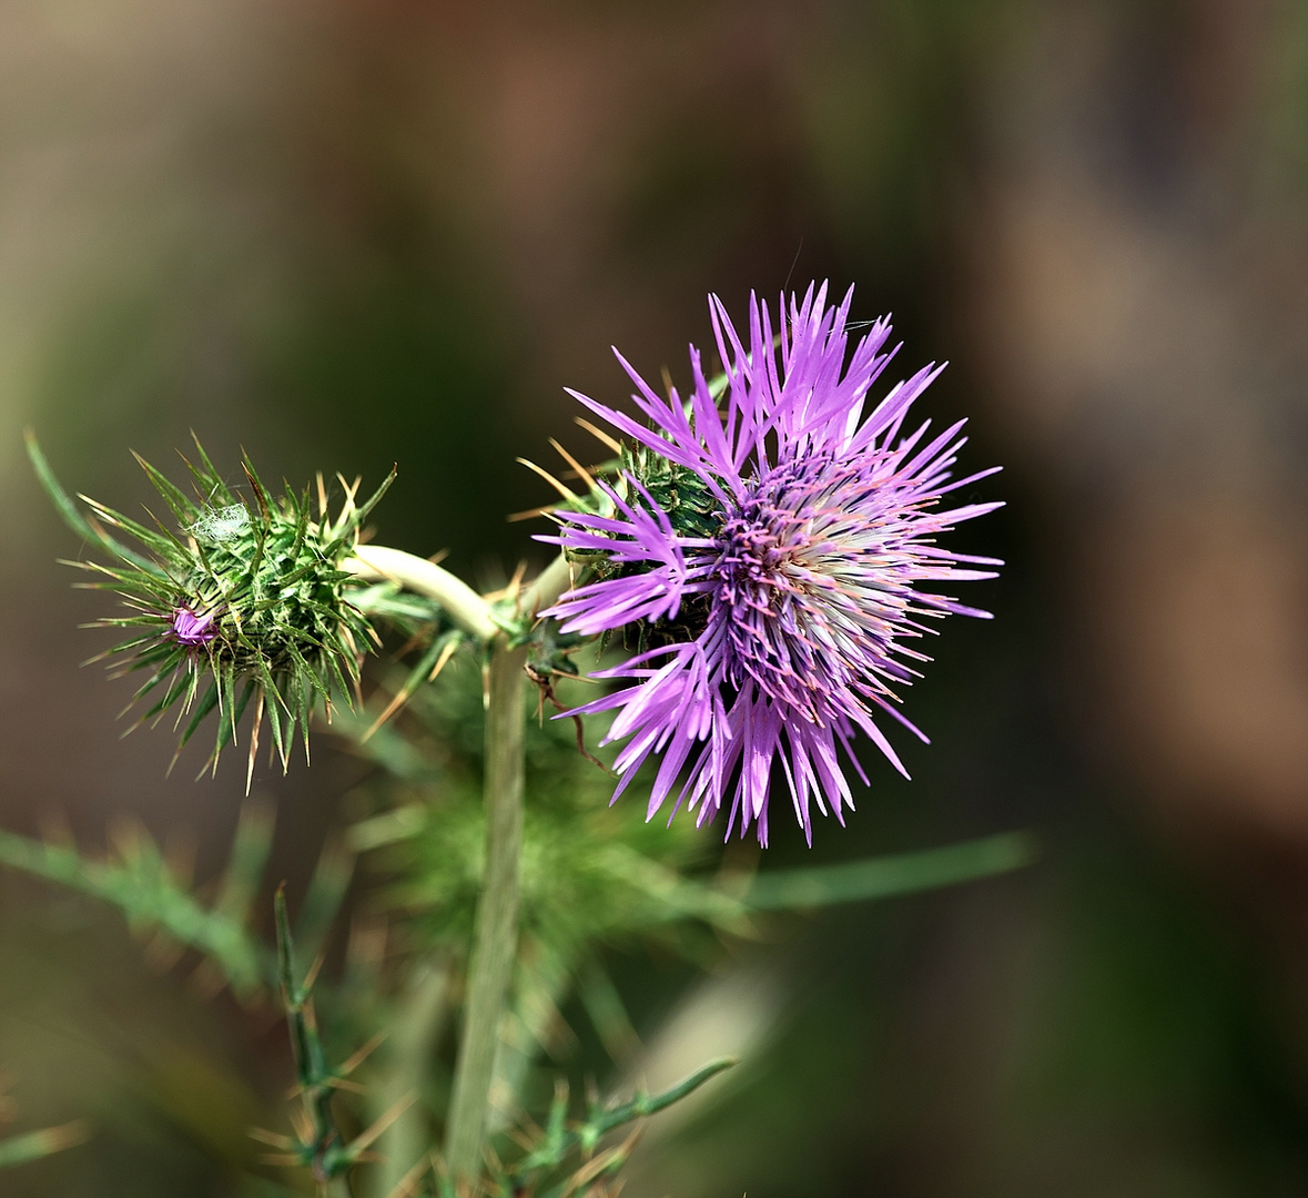
[{"label": "blurred brown and dark green backdrop behind the thistle plant", "polygon": [[[203,878],[241,802],[119,739],[24,425],[126,511],[128,449],[188,429],[297,485],[398,462],[379,539],[493,585],[543,557],[514,458],[594,456],[562,387],[625,396],[610,344],[684,382],[708,292],[854,282],[897,373],[951,360],[923,407],[1010,505],[960,540],[1010,565],[909,694],[914,781],[870,762],[850,828],[776,820],[769,863],[1016,827],[1044,858],[723,964],[698,1046],[746,1063],[628,1193],[1303,1193],[1305,201],[1295,0],[4,0],[0,820],[139,819]],[[322,744],[256,776],[293,887],[358,774]],[[698,1010],[621,977],[651,1042]],[[97,1129],[7,1193],[235,1193],[283,1038],[0,878],[14,1126]]]}]

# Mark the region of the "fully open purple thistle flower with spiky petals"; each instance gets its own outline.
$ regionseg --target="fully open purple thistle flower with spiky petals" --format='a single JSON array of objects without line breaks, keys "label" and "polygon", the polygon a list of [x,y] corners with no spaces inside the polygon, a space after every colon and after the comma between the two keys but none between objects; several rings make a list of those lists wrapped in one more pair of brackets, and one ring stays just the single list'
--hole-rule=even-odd
[{"label": "fully open purple thistle flower with spiky petals", "polygon": [[854,806],[837,749],[867,783],[850,748],[855,730],[905,777],[875,717],[891,715],[926,740],[895,706],[895,687],[920,676],[913,664],[927,660],[908,643],[934,630],[923,617],[989,615],[916,585],[994,577],[971,568],[1001,565],[994,558],[935,544],[959,522],[1002,506],[940,510],[944,494],[994,470],[950,481],[963,421],[931,438],[929,421],[904,433],[909,408],[943,366],[897,383],[865,415],[869,388],[895,351],[883,351],[891,327],[882,319],[846,365],[852,298],[853,289],[828,307],[825,285],[810,286],[802,302],[790,297],[787,319],[782,297],[774,340],[766,305],[751,297],[747,349],[710,297],[727,377],[721,400],[693,347],[685,403],[675,390],[658,396],[617,354],[653,428],[570,392],[666,459],[681,490],[712,509],[708,527],[705,519],[678,527],[674,505],[655,501],[653,484],[628,471],[616,488],[600,484],[612,515],[561,513],[561,535],[543,538],[578,557],[607,556],[599,581],[548,612],[562,632],[642,621],[657,645],[596,675],[632,685],[577,709],[616,709],[606,740],[630,738],[616,760],[615,799],[646,757],[662,755],[649,817],[689,762],[674,813],[688,802],[704,824],[730,798],[727,836],[739,816],[742,836],[753,824],[765,845],[780,762],[811,844],[814,803],[824,815],[829,803],[841,823]]}]

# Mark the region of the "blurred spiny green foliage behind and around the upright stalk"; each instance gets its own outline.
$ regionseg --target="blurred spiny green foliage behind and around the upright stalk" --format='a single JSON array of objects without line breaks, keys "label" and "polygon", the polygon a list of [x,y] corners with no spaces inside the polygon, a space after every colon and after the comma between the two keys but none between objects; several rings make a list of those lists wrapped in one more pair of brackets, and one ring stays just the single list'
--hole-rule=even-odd
[{"label": "blurred spiny green foliage behind and around the upright stalk", "polygon": [[[403,675],[396,684],[407,688]],[[568,679],[561,685],[582,688]],[[565,691],[564,705],[568,696]],[[1002,872],[1031,857],[1023,838],[993,837],[827,871],[781,871],[761,879],[713,874],[706,868],[712,862],[705,841],[689,820],[662,827],[642,820],[629,804],[610,808],[612,776],[582,753],[573,721],[547,721],[545,693],[538,698],[540,718],[528,726],[518,965],[498,1062],[500,1114],[492,1121],[497,1130],[523,1118],[525,1108],[543,1104],[544,1095],[557,1088],[557,1065],[547,1058],[562,1061],[568,1040],[577,1038],[560,1014],[574,989],[615,1062],[627,1061],[638,1045],[606,968],[606,951],[653,946],[712,967],[722,960],[725,944],[759,935],[760,910],[934,888]],[[199,953],[212,982],[230,986],[252,1008],[267,1007],[271,991],[280,987],[303,1116],[294,1137],[259,1133],[281,1150],[269,1161],[300,1165],[326,1184],[357,1172],[381,1139],[387,1155],[366,1191],[386,1198],[438,1142],[450,1071],[441,1061],[449,1061],[453,1048],[443,1042],[445,1007],[449,991],[463,984],[484,871],[481,723],[481,674],[468,649],[434,683],[419,688],[396,719],[378,725],[368,711],[340,713],[337,732],[353,731],[360,738],[356,751],[382,770],[353,795],[356,806],[375,813],[352,825],[348,853],[322,855],[301,904],[294,938],[313,952],[307,980],[292,955],[284,885],[276,895],[276,967],[258,931],[254,901],[272,836],[272,821],[259,806],[247,808],[208,904],[196,898],[190,879],[140,828],[120,832],[116,855],[107,861],[88,859],[67,845],[0,833],[0,863],[114,905],[139,936],[173,946],[174,960],[182,952]],[[581,731],[595,736],[603,725],[589,721]],[[366,870],[356,883],[354,917],[368,921],[370,930],[351,936],[339,976],[314,981],[332,943],[356,855]],[[403,1050],[365,1063],[392,1033]],[[365,1042],[368,1048],[356,1054]],[[330,1063],[347,1057],[344,1065]],[[549,1118],[552,1130],[539,1140],[527,1137],[521,1159],[497,1157],[501,1172],[493,1171],[487,1185],[505,1194],[528,1178],[544,1185],[578,1147],[585,1151],[577,1167],[591,1168],[586,1159],[602,1137],[663,1109],[715,1071],[696,1074],[663,1097],[646,1095],[616,1105],[593,1099],[582,1122],[568,1125],[566,1134],[562,1099]],[[203,1083],[196,1076],[192,1084]],[[340,1126],[352,1116],[337,1112],[348,1088],[364,1095],[362,1122],[353,1133]],[[199,1110],[221,1101],[217,1096],[200,1101]],[[603,1157],[608,1164],[594,1165],[587,1176],[607,1176],[625,1161],[627,1151],[610,1146]],[[568,1190],[568,1178],[557,1186]]]}]

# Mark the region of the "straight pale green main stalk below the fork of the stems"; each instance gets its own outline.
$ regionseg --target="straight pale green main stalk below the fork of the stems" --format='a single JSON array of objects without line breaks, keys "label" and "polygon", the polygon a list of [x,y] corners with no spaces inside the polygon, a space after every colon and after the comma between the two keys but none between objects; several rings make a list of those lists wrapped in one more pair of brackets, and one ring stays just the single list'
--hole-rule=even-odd
[{"label": "straight pale green main stalk below the fork of the stems", "polygon": [[487,867],[472,929],[463,1037],[454,1074],[445,1159],[450,1176],[472,1180],[481,1165],[509,981],[518,948],[518,857],[522,846],[526,649],[492,647],[487,689]]}]

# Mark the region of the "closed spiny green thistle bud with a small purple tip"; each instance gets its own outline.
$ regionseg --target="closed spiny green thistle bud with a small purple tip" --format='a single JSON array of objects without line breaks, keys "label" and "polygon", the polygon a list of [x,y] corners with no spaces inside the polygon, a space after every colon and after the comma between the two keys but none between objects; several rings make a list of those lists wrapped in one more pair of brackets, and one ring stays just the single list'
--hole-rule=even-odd
[{"label": "closed spiny green thistle bud with a small purple tip", "polygon": [[[216,709],[218,727],[208,762],[216,769],[254,701],[249,790],[264,715],[285,770],[297,727],[309,755],[314,708],[320,702],[330,718],[335,697],[352,701],[360,660],[375,633],[351,603],[354,578],[341,566],[395,472],[364,504],[354,502],[358,483],[347,485],[343,479],[344,501],[331,518],[320,475],[317,504],[307,488],[273,500],[245,458],[251,505],[228,489],[200,442],[195,445],[198,464],[182,459],[195,500],[137,456],[177,522],[174,531],[153,513],[150,528],[81,496],[90,510],[86,519],[55,480],[35,439],[27,439],[37,475],[65,522],[114,558],[110,565],[71,564],[99,575],[89,586],[115,591],[129,608],[129,615],[94,626],[131,633],[101,655],[115,676],[148,674],[132,696],[131,705],[148,704],[133,727],[177,708],[181,752]],[[123,544],[118,534],[145,552]]]}]

